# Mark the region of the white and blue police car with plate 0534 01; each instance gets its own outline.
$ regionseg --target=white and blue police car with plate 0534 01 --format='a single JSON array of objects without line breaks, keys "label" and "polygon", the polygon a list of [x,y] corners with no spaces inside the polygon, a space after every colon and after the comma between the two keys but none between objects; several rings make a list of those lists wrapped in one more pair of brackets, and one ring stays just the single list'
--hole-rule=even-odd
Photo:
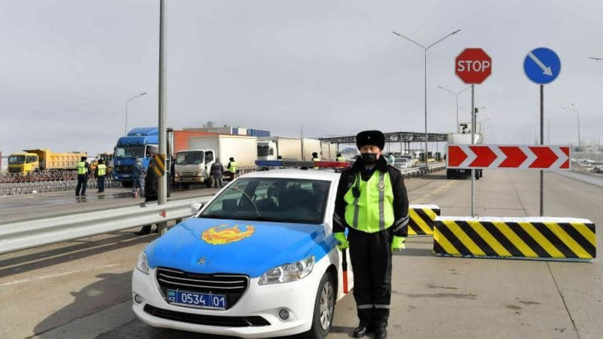
[{"label": "white and blue police car with plate 0534 01", "polygon": [[137,317],[207,334],[326,336],[335,302],[353,281],[351,267],[344,279],[332,234],[338,180],[320,170],[234,180],[140,253],[132,276]]}]

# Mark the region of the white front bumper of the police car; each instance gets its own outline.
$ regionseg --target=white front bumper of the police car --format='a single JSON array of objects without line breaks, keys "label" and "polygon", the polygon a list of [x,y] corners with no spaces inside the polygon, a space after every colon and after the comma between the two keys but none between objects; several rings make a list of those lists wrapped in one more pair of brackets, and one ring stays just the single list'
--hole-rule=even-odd
[{"label": "white front bumper of the police car", "polygon": [[[159,285],[155,280],[155,270],[144,274],[134,269],[132,274],[132,297],[138,294],[144,300],[133,302],[132,309],[136,316],[148,325],[159,328],[179,329],[183,331],[201,332],[218,335],[234,335],[242,338],[271,338],[283,335],[294,335],[306,332],[311,328],[314,314],[314,302],[318,284],[322,277],[321,270],[314,267],[312,273],[295,282],[283,284],[259,285],[259,278],[250,279],[249,286],[241,299],[226,310],[199,309],[171,305],[163,298]],[[266,326],[209,326],[198,325],[186,320],[179,321],[151,315],[145,311],[145,305],[151,305],[166,311],[185,312],[194,315],[225,317],[262,317],[270,325]],[[279,311],[286,309],[289,318],[283,320]]]}]

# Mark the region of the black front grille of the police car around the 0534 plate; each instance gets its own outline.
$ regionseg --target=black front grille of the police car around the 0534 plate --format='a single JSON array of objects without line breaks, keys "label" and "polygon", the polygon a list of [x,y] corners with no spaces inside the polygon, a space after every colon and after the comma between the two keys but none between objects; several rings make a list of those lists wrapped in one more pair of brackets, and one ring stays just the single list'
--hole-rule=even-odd
[{"label": "black front grille of the police car around the 0534 plate", "polygon": [[242,274],[200,274],[164,267],[157,268],[156,279],[164,299],[168,290],[223,294],[227,309],[241,299],[249,285],[249,277]]}]

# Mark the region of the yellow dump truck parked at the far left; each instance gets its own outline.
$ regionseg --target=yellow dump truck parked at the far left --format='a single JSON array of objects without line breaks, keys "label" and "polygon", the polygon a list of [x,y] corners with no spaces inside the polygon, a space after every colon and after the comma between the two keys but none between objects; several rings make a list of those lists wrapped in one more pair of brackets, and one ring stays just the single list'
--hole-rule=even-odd
[{"label": "yellow dump truck parked at the far left", "polygon": [[30,174],[33,171],[76,170],[75,164],[86,152],[52,153],[43,150],[24,150],[8,157],[8,173]]}]

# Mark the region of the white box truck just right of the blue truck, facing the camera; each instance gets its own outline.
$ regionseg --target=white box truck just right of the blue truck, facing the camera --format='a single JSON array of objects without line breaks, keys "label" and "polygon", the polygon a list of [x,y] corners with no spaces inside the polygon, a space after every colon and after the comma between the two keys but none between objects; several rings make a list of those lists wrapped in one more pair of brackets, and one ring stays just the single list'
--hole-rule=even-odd
[{"label": "white box truck just right of the blue truck, facing the camera", "polygon": [[176,185],[187,188],[192,183],[212,185],[210,168],[216,159],[224,166],[234,157],[239,167],[254,166],[257,138],[240,135],[215,135],[189,139],[189,149],[178,151],[174,163]]}]

